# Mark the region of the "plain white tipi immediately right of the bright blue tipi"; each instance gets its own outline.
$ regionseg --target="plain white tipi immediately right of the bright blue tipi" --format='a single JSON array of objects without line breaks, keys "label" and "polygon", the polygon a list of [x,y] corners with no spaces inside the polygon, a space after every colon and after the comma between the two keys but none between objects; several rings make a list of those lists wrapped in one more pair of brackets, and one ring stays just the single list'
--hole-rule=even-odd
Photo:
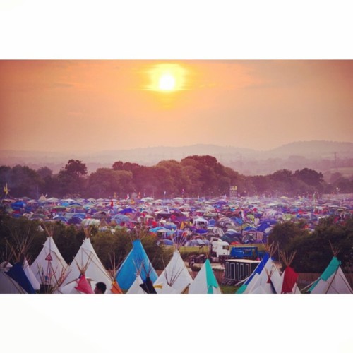
[{"label": "plain white tipi immediately right of the bright blue tipi", "polygon": [[[158,285],[161,285],[165,288],[166,285],[168,285],[175,289],[175,292],[181,293],[188,285],[191,285],[192,282],[193,278],[191,277],[189,270],[186,268],[179,251],[175,250],[172,259],[164,268],[160,277],[157,278],[154,286],[157,287]],[[166,290],[163,292],[167,293]]]}]

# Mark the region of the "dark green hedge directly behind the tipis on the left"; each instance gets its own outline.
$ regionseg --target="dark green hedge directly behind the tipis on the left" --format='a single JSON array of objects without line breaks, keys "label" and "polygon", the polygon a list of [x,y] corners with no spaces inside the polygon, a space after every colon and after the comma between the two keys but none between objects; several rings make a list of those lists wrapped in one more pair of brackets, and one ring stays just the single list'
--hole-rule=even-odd
[{"label": "dark green hedge directly behind the tipis on the left", "polygon": [[[107,270],[116,270],[128,256],[136,239],[140,239],[155,270],[163,270],[172,258],[172,249],[159,244],[157,238],[145,230],[128,232],[126,229],[116,229],[112,234],[109,230],[99,231],[97,227],[91,227],[89,233],[92,246]],[[62,222],[43,223],[0,213],[0,263],[15,263],[16,258],[21,256],[26,256],[32,263],[49,235],[68,264],[73,261],[86,237],[82,227],[64,225]]]}]

